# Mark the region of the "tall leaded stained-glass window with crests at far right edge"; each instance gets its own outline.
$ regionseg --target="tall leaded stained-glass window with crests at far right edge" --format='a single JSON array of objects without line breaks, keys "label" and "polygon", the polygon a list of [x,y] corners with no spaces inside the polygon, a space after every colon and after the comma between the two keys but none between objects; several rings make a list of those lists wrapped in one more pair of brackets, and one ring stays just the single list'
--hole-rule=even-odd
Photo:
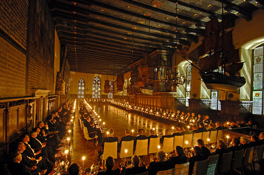
[{"label": "tall leaded stained-glass window with crests at far right edge", "polygon": [[263,44],[253,49],[253,114],[263,114]]}]

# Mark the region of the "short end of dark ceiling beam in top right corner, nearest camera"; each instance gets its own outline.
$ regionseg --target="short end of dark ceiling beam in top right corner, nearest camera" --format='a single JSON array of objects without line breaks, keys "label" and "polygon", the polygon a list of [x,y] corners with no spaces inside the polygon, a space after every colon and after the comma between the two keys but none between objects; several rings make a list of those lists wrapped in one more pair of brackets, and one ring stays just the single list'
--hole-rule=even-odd
[{"label": "short end of dark ceiling beam in top right corner, nearest camera", "polygon": [[242,18],[245,18],[247,21],[250,21],[252,19],[252,15],[251,15],[252,11],[248,8],[240,7],[240,6],[233,4],[227,0],[215,0],[215,1],[218,1],[221,3],[223,2],[224,4],[227,5],[226,7],[224,7],[225,10],[228,10],[230,8],[234,11],[237,11],[240,13],[238,15]]}]

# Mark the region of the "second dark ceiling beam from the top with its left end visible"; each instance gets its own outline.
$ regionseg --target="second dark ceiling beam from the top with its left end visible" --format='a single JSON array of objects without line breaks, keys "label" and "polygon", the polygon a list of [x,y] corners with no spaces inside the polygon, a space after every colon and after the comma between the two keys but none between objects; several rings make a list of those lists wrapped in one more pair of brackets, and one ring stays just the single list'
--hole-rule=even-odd
[{"label": "second dark ceiling beam from the top with its left end visible", "polygon": [[[67,20],[67,21],[73,21],[73,20],[76,20],[77,19],[77,15],[75,16],[67,16],[67,14],[63,14],[63,13],[60,13],[59,15],[57,15],[55,17],[55,20],[57,20],[57,18],[64,18],[64,20]],[[88,23],[87,23],[88,21]],[[77,20],[78,23],[85,23],[87,25],[91,25],[91,26],[94,26],[92,24],[90,24],[89,22],[92,22],[92,23],[96,23],[96,24],[100,24],[100,25],[105,25],[106,27],[107,26],[110,26],[112,28],[117,28],[119,30],[126,30],[126,33],[128,32],[136,32],[136,33],[139,33],[139,34],[142,34],[142,35],[145,35],[145,36],[152,36],[152,37],[160,37],[160,38],[163,38],[163,39],[167,39],[167,40],[175,40],[175,36],[166,36],[166,35],[162,35],[162,34],[157,34],[157,33],[148,33],[148,32],[145,32],[145,31],[141,31],[141,30],[134,30],[132,28],[127,28],[127,27],[123,27],[123,26],[120,26],[120,25],[117,25],[117,24],[112,24],[112,23],[107,23],[107,22],[104,22],[104,21],[100,21],[100,20],[95,20],[93,18],[89,18],[87,17],[86,20],[84,19],[84,17],[80,20],[80,18],[78,18]],[[76,23],[77,23],[76,22]],[[87,30],[89,30],[89,28],[87,28]],[[106,29],[107,30],[107,29]],[[163,29],[164,30],[164,29]],[[164,30],[164,32],[167,32],[167,30]],[[173,34],[175,34],[175,32],[173,32]],[[187,38],[187,40],[190,40],[190,41],[194,41],[194,42],[198,42],[198,36],[194,36],[194,35],[191,35],[191,34],[183,34],[183,33],[177,33],[177,37],[179,38],[182,38],[182,39],[185,39]]]}]

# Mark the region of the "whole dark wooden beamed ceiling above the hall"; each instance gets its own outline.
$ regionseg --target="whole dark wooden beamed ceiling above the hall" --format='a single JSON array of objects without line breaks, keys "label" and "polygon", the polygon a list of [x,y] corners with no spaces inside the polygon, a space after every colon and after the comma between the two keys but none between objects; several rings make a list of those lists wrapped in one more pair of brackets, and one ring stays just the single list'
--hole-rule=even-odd
[{"label": "whole dark wooden beamed ceiling above the hall", "polygon": [[174,52],[176,46],[198,42],[207,22],[222,19],[222,5],[224,18],[251,20],[251,13],[263,4],[263,0],[48,0],[60,43],[67,46],[70,70],[108,75],[130,71],[128,65],[156,49]]}]

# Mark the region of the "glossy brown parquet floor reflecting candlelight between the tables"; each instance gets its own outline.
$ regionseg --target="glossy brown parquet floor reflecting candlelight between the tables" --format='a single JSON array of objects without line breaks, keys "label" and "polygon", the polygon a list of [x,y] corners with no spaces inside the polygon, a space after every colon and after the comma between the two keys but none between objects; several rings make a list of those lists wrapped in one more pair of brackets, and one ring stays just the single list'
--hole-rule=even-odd
[{"label": "glossy brown parquet floor reflecting candlelight between the tables", "polygon": [[[76,104],[77,106],[77,104]],[[143,135],[149,136],[149,130],[151,128],[155,128],[155,132],[165,132],[165,129],[172,130],[172,126],[165,125],[163,123],[142,117],[140,115],[134,113],[126,114],[126,111],[123,109],[119,109],[117,107],[113,107],[111,105],[91,105],[92,110],[95,110],[97,114],[100,116],[101,122],[105,122],[106,128],[114,129],[114,137],[122,138],[125,136],[125,129],[129,128],[130,130],[134,130],[133,135],[136,136],[136,131],[140,128],[143,128]],[[85,143],[82,142],[82,136],[79,133],[79,114],[76,110],[75,123],[74,123],[74,133],[73,133],[73,149],[72,149],[72,163],[78,163],[80,166],[82,164],[82,157],[85,157],[84,167],[91,167],[91,165],[97,164],[99,161],[98,158],[98,150],[100,149],[100,144],[98,146],[94,146],[94,143],[90,140],[87,143],[87,147],[85,148]],[[86,142],[86,141],[85,141]],[[141,158],[145,164],[149,164],[146,156]],[[142,162],[141,161],[141,162]],[[119,162],[120,163],[120,162]],[[118,166],[119,166],[118,163]],[[116,164],[115,164],[116,166]],[[255,164],[256,174],[263,174],[260,171],[259,164]],[[239,174],[238,171],[233,174]],[[251,171],[246,168],[245,174],[251,174]]]}]

